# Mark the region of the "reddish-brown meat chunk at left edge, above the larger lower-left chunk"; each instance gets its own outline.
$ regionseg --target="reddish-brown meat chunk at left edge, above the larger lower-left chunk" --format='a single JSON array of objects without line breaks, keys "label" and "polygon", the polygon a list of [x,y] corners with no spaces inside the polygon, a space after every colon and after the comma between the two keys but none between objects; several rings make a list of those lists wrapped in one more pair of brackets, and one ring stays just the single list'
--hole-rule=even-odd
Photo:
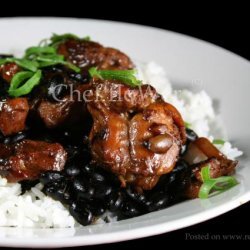
[{"label": "reddish-brown meat chunk at left edge, above the larger lower-left chunk", "polygon": [[26,98],[7,99],[0,102],[0,131],[3,135],[18,133],[25,128],[29,112]]}]

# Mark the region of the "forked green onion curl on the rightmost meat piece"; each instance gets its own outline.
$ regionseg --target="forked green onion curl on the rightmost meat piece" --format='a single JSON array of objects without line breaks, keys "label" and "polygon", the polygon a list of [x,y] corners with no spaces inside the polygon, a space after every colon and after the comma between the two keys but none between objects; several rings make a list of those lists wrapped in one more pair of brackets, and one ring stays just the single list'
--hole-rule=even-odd
[{"label": "forked green onion curl on the rightmost meat piece", "polygon": [[218,178],[210,177],[210,165],[201,169],[203,184],[200,187],[199,198],[207,199],[211,193],[224,192],[238,184],[233,176],[221,176]]}]

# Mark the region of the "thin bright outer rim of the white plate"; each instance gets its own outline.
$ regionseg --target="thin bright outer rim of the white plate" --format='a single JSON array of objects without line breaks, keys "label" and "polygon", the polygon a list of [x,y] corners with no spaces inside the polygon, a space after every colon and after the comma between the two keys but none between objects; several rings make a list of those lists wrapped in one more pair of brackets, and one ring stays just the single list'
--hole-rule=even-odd
[{"label": "thin bright outer rim of the white plate", "polygon": [[[203,44],[222,50],[224,53],[237,57],[238,59],[242,61],[242,63],[244,62],[250,65],[250,61],[248,59],[240,55],[237,55],[236,53],[231,52],[227,49],[224,49],[216,44],[213,44],[211,42],[207,42],[205,40],[192,37],[186,34],[178,33],[178,32],[171,31],[171,30],[156,28],[153,26],[146,26],[146,25],[141,25],[141,24],[133,24],[133,23],[126,23],[126,22],[119,22],[119,21],[111,21],[111,20],[104,20],[104,19],[67,18],[67,17],[3,17],[3,18],[0,18],[0,22],[2,22],[2,20],[6,20],[6,21],[18,21],[18,20],[41,20],[41,21],[52,20],[54,21],[56,20],[56,21],[80,21],[80,22],[89,21],[89,22],[96,22],[96,23],[105,22],[111,25],[118,24],[118,25],[130,26],[130,27],[136,26],[138,28],[152,29],[152,30],[156,30],[156,31],[164,32],[164,33],[165,32],[172,33],[178,37],[184,37],[190,40],[196,40]],[[102,233],[98,235],[94,234],[94,235],[72,236],[72,237],[67,237],[67,238],[51,238],[49,242],[45,242],[43,238],[37,238],[35,240],[31,240],[30,238],[27,238],[27,239],[15,238],[15,241],[10,241],[9,238],[0,238],[1,239],[0,246],[20,247],[20,244],[21,244],[22,247],[59,248],[59,247],[82,246],[82,245],[97,245],[97,244],[103,244],[103,243],[112,243],[112,242],[119,242],[119,241],[124,241],[124,240],[138,239],[138,238],[153,236],[153,235],[157,235],[161,233],[167,233],[170,231],[178,230],[180,228],[188,227],[188,226],[212,219],[216,216],[219,216],[223,213],[226,213],[232,209],[239,207],[240,205],[246,203],[249,200],[250,200],[250,191],[245,192],[240,197],[231,201],[230,203],[222,204],[219,207],[216,206],[210,210],[199,212],[198,214],[202,214],[202,216],[197,216],[197,214],[189,215],[186,218],[181,218],[181,219],[177,219],[177,220],[170,221],[170,222],[166,221],[166,222],[162,222],[156,225],[150,225],[147,228],[145,228],[145,230],[142,230],[142,228],[139,227],[139,228],[134,228],[134,229],[121,230],[118,232]],[[173,229],[173,226],[171,226],[172,224],[176,225],[174,229]],[[39,230],[43,230],[43,229],[39,229]],[[112,235],[112,236],[114,235],[115,237],[110,238],[109,235]],[[69,239],[73,239],[73,241],[70,241]]]}]

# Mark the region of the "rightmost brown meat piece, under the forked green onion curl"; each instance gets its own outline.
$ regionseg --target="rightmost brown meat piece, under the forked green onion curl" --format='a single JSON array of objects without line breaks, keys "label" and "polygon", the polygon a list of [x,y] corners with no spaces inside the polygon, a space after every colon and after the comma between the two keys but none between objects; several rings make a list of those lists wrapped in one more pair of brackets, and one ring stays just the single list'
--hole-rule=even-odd
[{"label": "rightmost brown meat piece, under the forked green onion curl", "polygon": [[200,137],[188,146],[184,159],[192,167],[192,179],[186,190],[187,198],[198,197],[202,185],[201,169],[210,167],[211,178],[233,174],[238,162],[228,159],[208,139]]}]

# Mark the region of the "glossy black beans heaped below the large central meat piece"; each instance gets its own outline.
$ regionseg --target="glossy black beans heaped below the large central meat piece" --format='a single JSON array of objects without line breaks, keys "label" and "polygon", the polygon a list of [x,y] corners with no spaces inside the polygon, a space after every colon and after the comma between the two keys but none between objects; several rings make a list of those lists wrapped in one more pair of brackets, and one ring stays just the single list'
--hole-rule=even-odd
[{"label": "glossy black beans heaped below the large central meat piece", "polygon": [[82,225],[91,224],[106,211],[112,212],[118,219],[132,218],[138,215],[166,208],[183,200],[185,176],[188,166],[179,161],[170,174],[162,176],[157,186],[143,194],[133,187],[120,187],[117,177],[103,168],[93,165],[91,157],[82,152],[87,146],[77,148],[72,153],[62,173],[48,171],[41,175],[43,192],[53,199],[69,206],[71,215]]}]

